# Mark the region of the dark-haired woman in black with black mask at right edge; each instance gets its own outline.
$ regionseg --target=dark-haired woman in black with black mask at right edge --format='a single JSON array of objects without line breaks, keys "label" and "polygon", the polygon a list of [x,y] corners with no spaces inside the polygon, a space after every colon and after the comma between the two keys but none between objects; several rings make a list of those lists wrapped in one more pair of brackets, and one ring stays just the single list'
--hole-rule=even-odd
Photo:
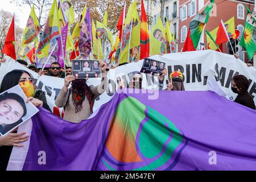
[{"label": "dark-haired woman in black with black mask at right edge", "polygon": [[231,89],[238,94],[234,102],[255,110],[253,98],[248,93],[249,86],[249,80],[245,76],[237,75],[233,77]]}]

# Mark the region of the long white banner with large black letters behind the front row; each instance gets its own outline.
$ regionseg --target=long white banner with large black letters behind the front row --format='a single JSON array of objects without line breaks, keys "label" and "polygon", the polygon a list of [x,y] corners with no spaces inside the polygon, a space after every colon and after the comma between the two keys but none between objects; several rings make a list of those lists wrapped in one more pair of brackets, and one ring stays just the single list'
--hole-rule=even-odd
[{"label": "long white banner with large black letters behind the front row", "polygon": [[[179,70],[182,72],[184,75],[185,90],[209,90],[207,82],[213,80],[212,78],[215,78],[222,91],[228,95],[230,100],[234,100],[237,96],[231,90],[232,77],[235,75],[245,75],[250,81],[248,91],[256,103],[256,69],[247,67],[243,61],[236,59],[233,55],[207,50],[171,53],[163,56],[155,55],[150,58],[166,63],[168,75],[173,71]],[[108,72],[109,89],[97,98],[94,110],[98,109],[98,107],[112,98],[117,89],[117,78],[121,78],[121,81],[130,82],[129,73],[141,71],[142,64],[143,61],[139,61],[138,63],[130,63],[115,69],[110,69]],[[0,67],[0,81],[2,81],[2,78],[6,73],[13,69],[24,69],[30,72],[36,79],[36,86],[46,92],[48,105],[53,109],[55,106],[55,98],[64,84],[64,79],[49,76],[39,77],[37,73],[32,72],[19,63],[9,59]],[[159,89],[156,77],[152,78],[143,73],[142,75],[143,89],[147,89],[147,92]],[[167,76],[165,79],[167,79]],[[100,79],[90,78],[88,80],[88,85],[96,86],[98,84],[100,84]],[[164,89],[165,88],[166,81],[164,81]],[[157,92],[152,92],[152,94],[156,93]]]}]

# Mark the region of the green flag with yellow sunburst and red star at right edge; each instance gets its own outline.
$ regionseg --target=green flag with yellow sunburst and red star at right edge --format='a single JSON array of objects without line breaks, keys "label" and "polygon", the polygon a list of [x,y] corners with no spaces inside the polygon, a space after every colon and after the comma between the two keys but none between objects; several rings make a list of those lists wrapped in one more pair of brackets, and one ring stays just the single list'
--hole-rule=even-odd
[{"label": "green flag with yellow sunburst and red star at right edge", "polygon": [[240,46],[246,49],[247,55],[251,59],[256,50],[256,20],[248,7],[246,7],[246,9],[245,29],[243,30]]}]

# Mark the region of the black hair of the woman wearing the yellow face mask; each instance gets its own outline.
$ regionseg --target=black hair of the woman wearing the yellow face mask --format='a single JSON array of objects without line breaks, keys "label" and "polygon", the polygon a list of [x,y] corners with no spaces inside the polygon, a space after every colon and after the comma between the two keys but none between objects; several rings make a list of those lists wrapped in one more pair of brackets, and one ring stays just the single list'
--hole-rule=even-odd
[{"label": "black hair of the woman wearing the yellow face mask", "polygon": [[33,77],[27,71],[21,69],[14,69],[13,71],[7,73],[5,77],[3,77],[2,84],[0,86],[0,93],[13,88],[14,86],[19,84],[19,79],[23,73],[27,73],[32,79]]}]

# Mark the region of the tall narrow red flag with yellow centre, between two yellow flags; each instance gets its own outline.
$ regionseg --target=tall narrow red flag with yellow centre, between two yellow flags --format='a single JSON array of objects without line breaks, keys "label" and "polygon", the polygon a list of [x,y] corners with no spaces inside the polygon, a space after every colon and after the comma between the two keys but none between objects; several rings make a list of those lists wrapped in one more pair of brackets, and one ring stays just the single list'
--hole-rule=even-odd
[{"label": "tall narrow red flag with yellow centre, between two yellow flags", "polygon": [[149,57],[150,54],[150,42],[149,31],[147,24],[147,14],[145,11],[143,0],[141,1],[141,56],[140,59]]}]

